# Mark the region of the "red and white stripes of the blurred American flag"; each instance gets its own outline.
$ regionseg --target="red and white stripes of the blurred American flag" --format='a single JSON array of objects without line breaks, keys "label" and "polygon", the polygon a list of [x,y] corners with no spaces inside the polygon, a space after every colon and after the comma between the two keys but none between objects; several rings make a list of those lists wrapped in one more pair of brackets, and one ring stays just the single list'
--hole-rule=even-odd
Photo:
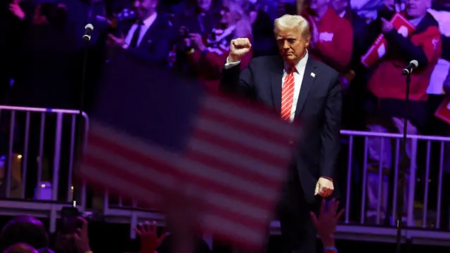
[{"label": "red and white stripes of the blurred American flag", "polygon": [[207,96],[183,153],[94,122],[82,174],[158,207],[167,190],[201,206],[205,231],[236,245],[262,246],[292,157],[296,129],[276,115]]}]

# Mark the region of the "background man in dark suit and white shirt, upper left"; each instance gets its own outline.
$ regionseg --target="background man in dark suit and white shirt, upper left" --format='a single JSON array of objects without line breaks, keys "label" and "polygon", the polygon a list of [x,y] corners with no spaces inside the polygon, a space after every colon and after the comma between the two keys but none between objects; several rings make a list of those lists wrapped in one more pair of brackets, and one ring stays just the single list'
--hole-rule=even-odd
[{"label": "background man in dark suit and white shirt, upper left", "polygon": [[119,36],[109,34],[113,44],[158,63],[166,63],[172,49],[174,30],[166,15],[158,13],[158,0],[136,0],[136,22],[119,27]]}]

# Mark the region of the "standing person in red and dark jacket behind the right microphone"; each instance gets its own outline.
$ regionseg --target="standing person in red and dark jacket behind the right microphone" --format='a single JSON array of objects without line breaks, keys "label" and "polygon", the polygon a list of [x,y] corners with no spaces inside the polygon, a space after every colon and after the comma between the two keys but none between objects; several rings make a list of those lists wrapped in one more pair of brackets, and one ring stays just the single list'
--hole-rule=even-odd
[{"label": "standing person in red and dark jacket behind the right microphone", "polygon": [[[406,18],[416,26],[416,31],[409,37],[404,37],[397,32],[386,19],[380,19],[381,30],[387,40],[387,53],[368,82],[368,89],[374,95],[376,105],[375,113],[371,115],[368,122],[370,131],[387,132],[394,129],[402,133],[404,124],[408,124],[408,133],[418,134],[418,129],[425,124],[428,84],[442,51],[437,21],[427,12],[430,6],[430,0],[407,1]],[[411,74],[409,97],[411,101],[408,110],[405,110],[406,79],[401,72],[411,60],[418,61],[418,68]],[[404,122],[404,118],[407,122]],[[408,155],[410,155],[411,147],[409,144],[406,143]],[[369,138],[368,145],[369,156],[374,164],[368,174],[367,216],[377,215],[375,210],[378,202],[381,202],[383,216],[387,208],[387,174],[390,173],[392,164],[391,143],[387,138]],[[383,150],[380,151],[381,146]],[[385,174],[381,196],[378,195],[380,161],[383,161],[381,166]]]}]

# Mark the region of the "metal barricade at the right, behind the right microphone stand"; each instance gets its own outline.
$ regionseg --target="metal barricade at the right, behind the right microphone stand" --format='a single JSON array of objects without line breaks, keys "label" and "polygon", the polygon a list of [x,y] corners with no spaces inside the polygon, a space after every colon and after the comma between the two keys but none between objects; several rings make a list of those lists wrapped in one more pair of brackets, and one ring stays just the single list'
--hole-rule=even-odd
[{"label": "metal barricade at the right, behind the right microphone stand", "polygon": [[[366,222],[366,211],[367,211],[367,191],[368,191],[368,142],[371,138],[387,138],[390,140],[392,145],[395,147],[392,152],[392,156],[394,157],[394,169],[390,171],[390,173],[394,173],[394,182],[393,185],[389,187],[389,189],[385,189],[383,187],[383,167],[382,162],[378,165],[378,193],[377,199],[382,200],[382,195],[385,194],[384,191],[387,191],[388,195],[392,195],[390,198],[390,210],[384,210],[385,212],[390,212],[390,214],[396,214],[397,212],[397,196],[399,189],[399,160],[400,159],[400,143],[402,134],[380,134],[380,133],[372,133],[372,132],[362,132],[362,131],[341,131],[343,136],[348,138],[348,162],[347,162],[347,180],[346,180],[346,189],[345,189],[345,223],[359,223],[359,224],[367,224]],[[360,138],[362,143],[362,147],[355,147],[355,139]],[[444,160],[446,159],[446,145],[450,144],[449,137],[440,137],[440,136],[416,136],[409,135],[407,136],[408,140],[411,141],[410,145],[410,157],[409,157],[409,175],[406,175],[406,178],[409,178],[407,186],[404,187],[406,196],[404,196],[404,206],[406,207],[406,226],[413,227],[421,227],[421,228],[439,228],[441,223],[441,209],[442,209],[442,178],[444,173]],[[432,157],[432,145],[437,144],[437,150],[439,150],[439,155]],[[354,148],[364,148],[364,157],[361,162],[362,171],[362,184],[361,188],[352,188],[352,175],[354,174]],[[381,149],[383,149],[383,145],[381,145]],[[418,152],[418,150],[425,150],[425,152]],[[380,153],[383,153],[383,150],[380,150]],[[447,150],[448,153],[448,150]],[[439,160],[437,162],[437,167],[432,167],[432,158],[436,158]],[[450,157],[448,157],[450,159]],[[435,171],[433,171],[435,170]],[[422,171],[423,176],[418,176],[418,171]],[[436,177],[432,179],[430,177],[431,172],[435,172]],[[450,172],[450,171],[449,171]],[[435,205],[435,217],[433,221],[430,221],[430,182],[437,181],[437,196],[436,196],[436,205]],[[416,184],[418,182],[423,182],[423,199],[418,199],[416,197]],[[391,190],[392,189],[392,190]],[[352,200],[352,192],[361,190],[361,200]],[[359,201],[360,209],[355,210],[351,208],[352,201]],[[415,208],[415,203],[422,205],[422,210],[420,217]],[[382,201],[378,201],[376,206],[376,219],[375,224],[369,225],[380,225],[381,216],[382,216]],[[420,206],[419,205],[419,206]],[[359,212],[359,219],[350,219],[351,212]],[[386,217],[387,219],[388,217]],[[391,220],[393,217],[391,216]],[[390,225],[394,225],[389,222]]]}]

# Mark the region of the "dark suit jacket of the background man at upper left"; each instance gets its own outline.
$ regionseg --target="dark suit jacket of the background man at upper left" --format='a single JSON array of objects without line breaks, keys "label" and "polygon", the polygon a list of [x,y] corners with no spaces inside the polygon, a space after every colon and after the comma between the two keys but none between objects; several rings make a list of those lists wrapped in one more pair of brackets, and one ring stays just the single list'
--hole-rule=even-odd
[{"label": "dark suit jacket of the background man at upper left", "polygon": [[[132,25],[130,23],[124,23],[122,27],[119,27],[119,31],[122,32],[124,37],[127,37]],[[158,13],[158,17],[148,28],[139,46],[136,48],[128,48],[128,50],[146,60],[167,63],[169,52],[172,50],[174,43],[174,36],[174,29],[166,15],[164,13]]]}]

